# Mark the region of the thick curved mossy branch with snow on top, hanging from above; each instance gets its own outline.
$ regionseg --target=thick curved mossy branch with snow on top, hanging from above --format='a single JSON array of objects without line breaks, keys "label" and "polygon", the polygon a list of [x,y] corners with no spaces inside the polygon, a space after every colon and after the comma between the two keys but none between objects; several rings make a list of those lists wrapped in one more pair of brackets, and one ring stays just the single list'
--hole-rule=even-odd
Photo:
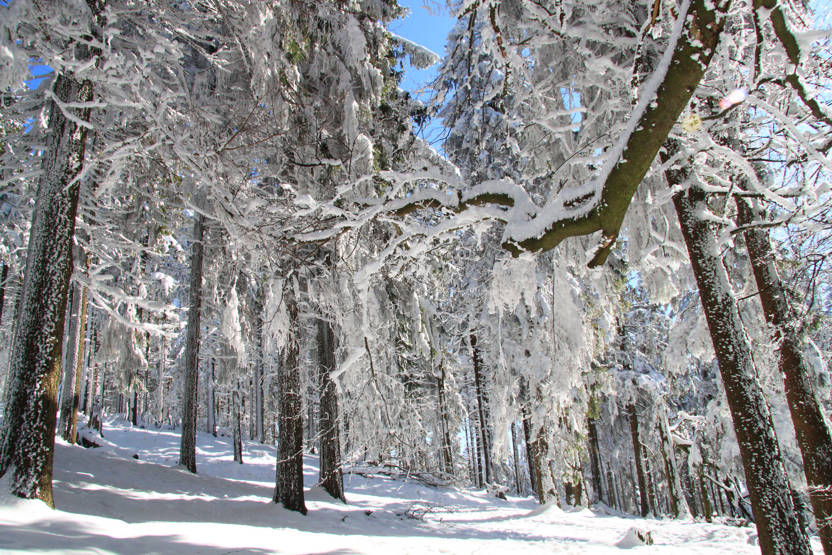
[{"label": "thick curved mossy branch with snow on top, hanging from above", "polygon": [[[622,139],[626,143],[620,156],[612,153],[617,159],[609,162],[614,166],[600,187],[600,195],[589,192],[585,196],[563,202],[562,206],[557,207],[557,212],[547,215],[547,208],[534,206],[524,192],[501,192],[494,191],[493,187],[483,187],[482,193],[478,194],[478,187],[474,187],[464,196],[448,196],[449,201],[437,197],[418,201],[408,199],[407,204],[396,206],[393,212],[404,216],[424,207],[444,206],[461,212],[467,206],[490,203],[507,206],[514,211],[524,211],[527,215],[518,221],[507,214],[507,221],[514,221],[517,230],[526,224],[538,225],[542,229],[540,234],[532,238],[518,236],[519,233],[509,230],[503,248],[513,255],[519,255],[524,250],[552,250],[567,237],[591,235],[600,230],[604,237],[603,243],[589,266],[603,265],[618,238],[632,196],[711,63],[729,4],[730,0],[722,3],[691,1],[685,27],[676,42],[664,78],[656,88],[654,98],[643,97],[642,102],[646,102],[646,106],[643,111],[636,110],[634,116],[638,117],[637,124],[632,127],[629,136]],[[638,116],[639,113],[641,116]],[[518,195],[523,198],[518,198]],[[594,206],[582,210],[591,201],[594,201]],[[569,216],[570,211],[575,216]],[[518,222],[520,225],[517,225]]]}]

